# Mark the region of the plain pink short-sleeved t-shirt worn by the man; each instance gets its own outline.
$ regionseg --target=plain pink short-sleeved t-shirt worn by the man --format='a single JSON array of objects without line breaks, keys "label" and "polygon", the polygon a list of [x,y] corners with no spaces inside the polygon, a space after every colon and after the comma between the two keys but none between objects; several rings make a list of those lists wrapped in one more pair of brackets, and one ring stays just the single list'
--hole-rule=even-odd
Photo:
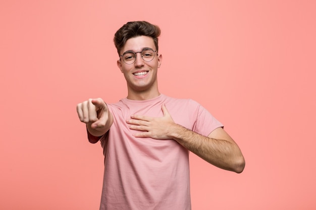
[{"label": "plain pink short-sleeved t-shirt worn by the man", "polygon": [[114,122],[100,138],[105,157],[101,210],[191,209],[189,151],[173,139],[134,137],[140,131],[126,123],[131,114],[163,116],[163,104],[176,123],[202,135],[223,126],[190,99],[160,95],[108,104]]}]

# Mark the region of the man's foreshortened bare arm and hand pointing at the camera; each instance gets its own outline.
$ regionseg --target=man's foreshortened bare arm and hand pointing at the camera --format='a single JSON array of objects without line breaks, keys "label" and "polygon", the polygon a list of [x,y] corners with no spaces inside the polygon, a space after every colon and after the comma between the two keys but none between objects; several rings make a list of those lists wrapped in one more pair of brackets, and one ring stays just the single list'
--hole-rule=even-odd
[{"label": "man's foreshortened bare arm and hand pointing at the camera", "polygon": [[[113,124],[113,115],[101,98],[89,99],[77,104],[77,113],[80,121],[86,123],[87,131],[92,136],[105,134]],[[98,138],[89,138],[89,141],[96,143]]]}]

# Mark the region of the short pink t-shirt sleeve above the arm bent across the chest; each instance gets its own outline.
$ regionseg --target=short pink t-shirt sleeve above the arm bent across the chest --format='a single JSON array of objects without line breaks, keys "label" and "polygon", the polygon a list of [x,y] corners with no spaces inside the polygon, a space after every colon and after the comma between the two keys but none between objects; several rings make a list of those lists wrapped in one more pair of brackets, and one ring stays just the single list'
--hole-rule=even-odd
[{"label": "short pink t-shirt sleeve above the arm bent across the chest", "polygon": [[218,127],[223,127],[223,124],[218,121],[208,110],[199,103],[191,100],[191,105],[195,107],[193,131],[201,135],[208,136],[213,130]]}]

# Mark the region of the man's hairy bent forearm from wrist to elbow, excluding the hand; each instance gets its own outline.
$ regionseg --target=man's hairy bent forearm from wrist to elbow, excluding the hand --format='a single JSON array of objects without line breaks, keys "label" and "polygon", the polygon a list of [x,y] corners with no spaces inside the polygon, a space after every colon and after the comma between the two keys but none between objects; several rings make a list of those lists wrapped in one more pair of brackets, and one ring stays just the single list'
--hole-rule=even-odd
[{"label": "man's hairy bent forearm from wrist to elbow, excluding the hand", "polygon": [[203,136],[178,124],[171,127],[170,135],[210,164],[236,173],[244,168],[244,158],[234,142]]}]

